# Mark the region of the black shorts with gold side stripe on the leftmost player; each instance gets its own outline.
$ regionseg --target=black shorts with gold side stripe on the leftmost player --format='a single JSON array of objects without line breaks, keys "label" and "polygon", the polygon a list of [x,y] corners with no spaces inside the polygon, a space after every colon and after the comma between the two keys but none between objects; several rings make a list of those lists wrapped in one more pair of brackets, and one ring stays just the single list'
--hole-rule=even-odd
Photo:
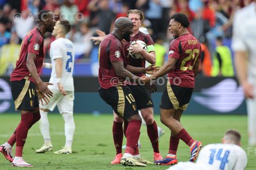
[{"label": "black shorts with gold side stripe on the leftmost player", "polygon": [[39,107],[35,84],[27,79],[11,81],[15,110],[34,110]]}]

